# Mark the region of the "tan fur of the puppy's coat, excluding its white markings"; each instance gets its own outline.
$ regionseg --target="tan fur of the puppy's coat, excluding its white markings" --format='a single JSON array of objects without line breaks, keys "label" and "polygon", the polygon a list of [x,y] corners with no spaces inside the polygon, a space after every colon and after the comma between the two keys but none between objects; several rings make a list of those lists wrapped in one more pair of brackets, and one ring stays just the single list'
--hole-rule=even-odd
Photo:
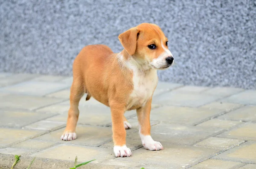
[{"label": "tan fur of the puppy's coat, excluding its white markings", "polygon": [[[94,97],[110,107],[115,146],[125,145],[124,113],[127,110],[137,109],[141,133],[150,135],[149,116],[154,91],[149,98],[139,98],[141,104],[138,102],[128,106],[132,101],[131,93],[134,90],[134,73],[128,61],[133,57],[139,70],[150,71],[153,68],[148,66],[148,63],[164,52],[161,41],[166,43],[167,38],[158,26],[143,23],[120,34],[119,40],[125,48],[119,54],[114,54],[105,45],[89,45],[85,46],[74,60],[70,109],[64,134],[75,132],[79,117],[79,100],[84,93],[87,93],[86,100]],[[147,46],[151,43],[156,44],[158,48],[148,49]],[[121,59],[119,55],[122,56]],[[156,86],[156,84],[152,85]]]}]

